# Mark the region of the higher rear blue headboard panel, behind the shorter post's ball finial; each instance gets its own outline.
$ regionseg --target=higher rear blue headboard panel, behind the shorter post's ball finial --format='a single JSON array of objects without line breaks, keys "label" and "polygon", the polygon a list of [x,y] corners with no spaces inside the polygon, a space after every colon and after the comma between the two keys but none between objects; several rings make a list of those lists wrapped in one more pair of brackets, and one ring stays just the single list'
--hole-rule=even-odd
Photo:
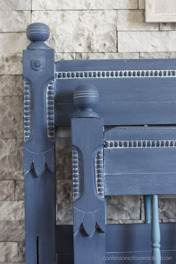
[{"label": "higher rear blue headboard panel, behind the shorter post's ball finial", "polygon": [[[79,111],[73,92],[80,84],[92,84],[99,92],[94,111],[103,117],[104,125],[174,124],[175,59],[170,60],[76,60],[55,63],[55,72],[108,71],[109,77],[62,77],[55,79],[56,126],[70,126]],[[153,71],[153,76],[138,76],[138,71]],[[160,76],[160,70],[170,71]],[[136,77],[111,77],[111,71],[133,71]],[[157,71],[155,76],[155,71]],[[175,74],[175,72],[174,72]],[[80,74],[79,74],[80,75]],[[67,76],[67,75],[66,75]],[[97,75],[98,76],[98,75]]]}]

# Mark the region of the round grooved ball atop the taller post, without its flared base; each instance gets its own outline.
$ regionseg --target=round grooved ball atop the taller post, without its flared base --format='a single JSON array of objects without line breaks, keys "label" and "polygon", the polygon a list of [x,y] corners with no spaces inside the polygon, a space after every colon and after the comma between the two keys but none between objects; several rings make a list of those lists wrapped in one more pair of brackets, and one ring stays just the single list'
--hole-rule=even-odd
[{"label": "round grooved ball atop the taller post, without its flared base", "polygon": [[26,36],[32,42],[44,42],[50,36],[50,28],[44,23],[32,23],[26,28]]}]

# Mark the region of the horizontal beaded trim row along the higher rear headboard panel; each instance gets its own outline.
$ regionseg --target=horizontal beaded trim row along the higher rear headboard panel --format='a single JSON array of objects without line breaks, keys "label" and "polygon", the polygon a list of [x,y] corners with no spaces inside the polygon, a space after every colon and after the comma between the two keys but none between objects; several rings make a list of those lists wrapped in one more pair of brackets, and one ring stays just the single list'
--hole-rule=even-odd
[{"label": "horizontal beaded trim row along the higher rear headboard panel", "polygon": [[55,79],[72,78],[122,78],[122,77],[176,77],[176,70],[123,70],[55,72]]}]

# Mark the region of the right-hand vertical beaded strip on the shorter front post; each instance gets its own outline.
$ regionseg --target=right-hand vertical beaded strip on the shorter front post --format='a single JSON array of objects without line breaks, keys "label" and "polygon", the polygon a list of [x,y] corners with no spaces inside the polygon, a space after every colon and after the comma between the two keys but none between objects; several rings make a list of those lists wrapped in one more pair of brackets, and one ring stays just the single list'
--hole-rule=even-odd
[{"label": "right-hand vertical beaded strip on the shorter front post", "polygon": [[96,164],[96,182],[97,192],[101,197],[104,197],[104,184],[103,184],[103,149],[100,149],[95,157]]}]

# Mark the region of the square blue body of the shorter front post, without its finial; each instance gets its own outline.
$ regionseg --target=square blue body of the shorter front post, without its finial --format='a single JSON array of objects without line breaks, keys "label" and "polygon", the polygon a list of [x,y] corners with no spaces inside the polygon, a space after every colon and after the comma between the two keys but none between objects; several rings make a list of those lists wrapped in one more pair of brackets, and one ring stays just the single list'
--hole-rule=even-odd
[{"label": "square blue body of the shorter front post, without its finial", "polygon": [[103,120],[74,118],[71,128],[74,164],[78,164],[79,157],[79,165],[73,167],[73,173],[76,170],[80,175],[80,189],[74,187],[78,178],[73,177],[74,261],[100,264],[105,254],[105,202],[97,186],[95,160],[103,147]]}]

